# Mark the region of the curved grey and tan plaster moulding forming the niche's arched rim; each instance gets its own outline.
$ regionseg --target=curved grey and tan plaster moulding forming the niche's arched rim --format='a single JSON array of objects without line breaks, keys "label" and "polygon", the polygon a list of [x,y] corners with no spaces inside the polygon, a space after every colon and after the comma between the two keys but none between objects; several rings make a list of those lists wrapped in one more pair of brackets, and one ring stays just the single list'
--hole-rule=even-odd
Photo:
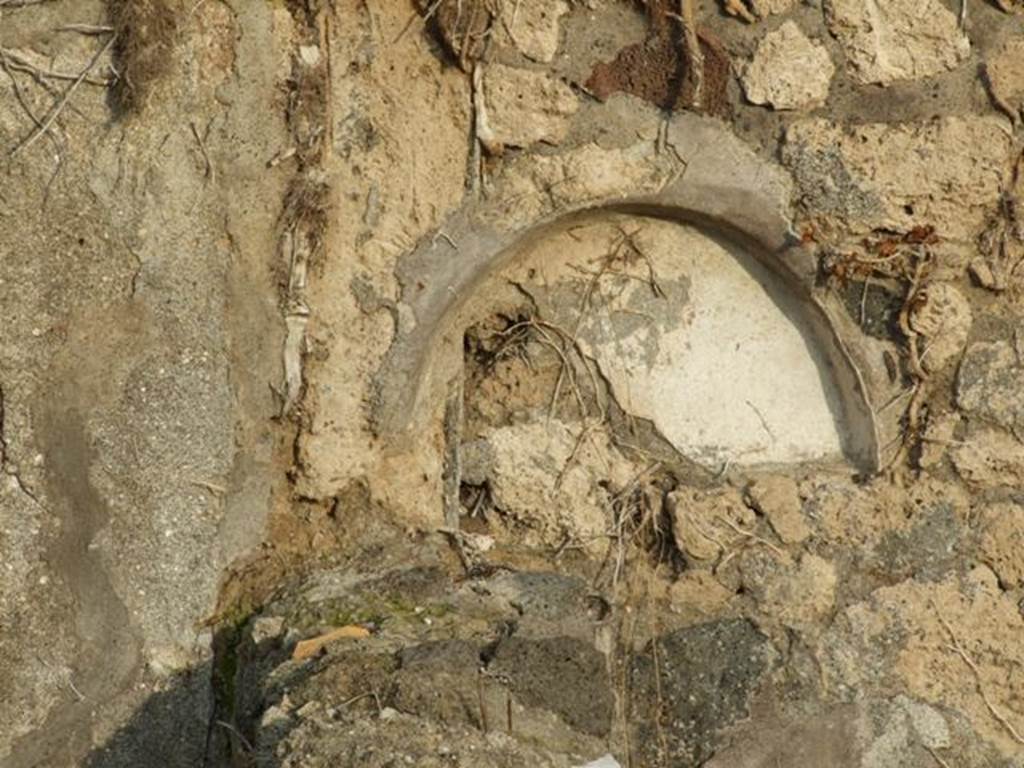
[{"label": "curved grey and tan plaster moulding forming the niche's arched rim", "polygon": [[485,199],[466,203],[399,262],[398,328],[377,377],[378,432],[401,444],[402,435],[436,417],[461,366],[462,310],[488,276],[581,220],[633,214],[711,232],[777,276],[800,308],[822,378],[830,379],[839,400],[843,455],[861,471],[877,471],[880,429],[871,402],[882,393],[872,398],[861,375],[871,365],[868,348],[859,329],[815,289],[813,254],[793,233],[791,190],[788,175],[724,124],[686,114],[669,124],[662,147],[590,146],[511,164]]}]

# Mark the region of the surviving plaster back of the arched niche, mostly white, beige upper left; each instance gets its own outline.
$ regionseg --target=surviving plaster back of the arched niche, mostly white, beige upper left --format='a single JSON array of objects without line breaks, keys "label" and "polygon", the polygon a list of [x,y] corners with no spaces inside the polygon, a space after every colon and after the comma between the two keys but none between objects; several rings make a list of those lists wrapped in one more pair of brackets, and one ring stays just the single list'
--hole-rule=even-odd
[{"label": "surviving plaster back of the arched niche, mostly white, beige upper left", "polygon": [[[618,226],[643,257],[607,262]],[[542,316],[579,325],[618,403],[685,456],[717,468],[842,455],[839,397],[795,325],[799,300],[752,257],[690,226],[624,219],[551,238],[526,261]]]}]

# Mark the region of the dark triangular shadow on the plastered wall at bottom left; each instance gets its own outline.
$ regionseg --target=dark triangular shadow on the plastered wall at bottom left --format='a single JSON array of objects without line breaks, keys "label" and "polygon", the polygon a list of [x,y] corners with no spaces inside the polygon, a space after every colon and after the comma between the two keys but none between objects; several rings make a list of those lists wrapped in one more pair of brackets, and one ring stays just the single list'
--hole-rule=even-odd
[{"label": "dark triangular shadow on the plastered wall at bottom left", "polygon": [[206,755],[213,713],[210,672],[211,665],[204,664],[172,678],[164,690],[146,698],[103,746],[93,750],[83,765],[86,768],[225,765],[209,761]]}]

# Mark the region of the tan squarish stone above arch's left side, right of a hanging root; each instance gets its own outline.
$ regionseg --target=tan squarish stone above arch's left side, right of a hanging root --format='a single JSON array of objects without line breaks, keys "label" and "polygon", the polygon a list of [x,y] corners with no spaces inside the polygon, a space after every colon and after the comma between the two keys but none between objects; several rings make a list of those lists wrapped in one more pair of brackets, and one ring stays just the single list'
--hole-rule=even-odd
[{"label": "tan squarish stone above arch's left side, right of a hanging root", "polygon": [[494,151],[538,141],[557,144],[565,138],[569,119],[579,109],[571,88],[532,70],[487,65],[481,88],[477,134]]}]

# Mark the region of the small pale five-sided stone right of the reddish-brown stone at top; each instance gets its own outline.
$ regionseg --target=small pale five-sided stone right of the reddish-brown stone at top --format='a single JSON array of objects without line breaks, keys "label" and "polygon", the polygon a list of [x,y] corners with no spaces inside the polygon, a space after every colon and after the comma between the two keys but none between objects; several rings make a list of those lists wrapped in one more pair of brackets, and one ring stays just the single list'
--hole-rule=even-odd
[{"label": "small pale five-sided stone right of the reddish-brown stone at top", "polygon": [[828,50],[794,22],[769,32],[743,71],[743,91],[756,104],[776,110],[819,106],[828,97],[836,66]]}]

